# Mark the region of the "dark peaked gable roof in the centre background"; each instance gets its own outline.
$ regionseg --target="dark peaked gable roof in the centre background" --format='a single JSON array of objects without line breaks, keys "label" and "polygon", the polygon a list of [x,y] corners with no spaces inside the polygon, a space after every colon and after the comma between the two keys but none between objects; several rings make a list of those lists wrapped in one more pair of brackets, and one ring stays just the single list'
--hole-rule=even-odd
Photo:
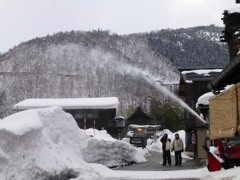
[{"label": "dark peaked gable roof in the centre background", "polygon": [[138,106],[135,112],[126,119],[125,124],[156,125],[159,124],[159,122],[150,118],[145,112],[143,112],[142,108]]}]

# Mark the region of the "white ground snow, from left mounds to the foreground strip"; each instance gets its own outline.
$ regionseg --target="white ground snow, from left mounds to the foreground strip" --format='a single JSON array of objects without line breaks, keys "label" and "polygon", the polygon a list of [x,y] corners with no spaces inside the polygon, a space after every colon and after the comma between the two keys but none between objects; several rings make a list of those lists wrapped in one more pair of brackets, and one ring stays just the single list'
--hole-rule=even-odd
[{"label": "white ground snow, from left mounds to the foreground strip", "polygon": [[[174,134],[168,130],[169,137]],[[184,131],[179,131],[184,139]],[[240,179],[240,168],[208,172],[117,171],[108,167],[142,163],[161,151],[159,139],[146,149],[113,139],[106,131],[79,129],[60,107],[22,111],[0,120],[0,180]],[[151,144],[151,145],[150,145]]]}]

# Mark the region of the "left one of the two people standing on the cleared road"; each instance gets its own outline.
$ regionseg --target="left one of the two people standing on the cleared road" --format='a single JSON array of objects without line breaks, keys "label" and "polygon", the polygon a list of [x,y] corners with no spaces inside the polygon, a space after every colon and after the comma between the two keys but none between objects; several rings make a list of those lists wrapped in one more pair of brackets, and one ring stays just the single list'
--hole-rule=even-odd
[{"label": "left one of the two people standing on the cleared road", "polygon": [[164,134],[163,137],[161,138],[162,142],[162,151],[163,151],[163,166],[166,166],[166,161],[168,162],[168,165],[171,166],[171,140],[168,139],[168,135]]}]

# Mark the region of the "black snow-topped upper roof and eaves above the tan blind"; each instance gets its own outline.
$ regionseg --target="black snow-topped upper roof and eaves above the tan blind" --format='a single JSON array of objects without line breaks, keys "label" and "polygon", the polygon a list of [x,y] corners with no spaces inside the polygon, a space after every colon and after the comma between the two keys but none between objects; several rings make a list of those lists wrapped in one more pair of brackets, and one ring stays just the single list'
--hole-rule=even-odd
[{"label": "black snow-topped upper roof and eaves above the tan blind", "polygon": [[225,86],[240,82],[240,11],[239,8],[224,11],[225,24],[222,42],[227,42],[230,63],[222,73],[210,83],[212,90],[218,94]]}]

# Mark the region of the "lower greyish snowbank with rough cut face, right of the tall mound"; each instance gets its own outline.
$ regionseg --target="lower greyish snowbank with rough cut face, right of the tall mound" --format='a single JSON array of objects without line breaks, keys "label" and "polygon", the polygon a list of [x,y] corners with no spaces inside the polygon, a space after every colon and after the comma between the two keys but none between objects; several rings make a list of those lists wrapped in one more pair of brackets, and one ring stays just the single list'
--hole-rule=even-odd
[{"label": "lower greyish snowbank with rough cut face, right of the tall mound", "polygon": [[86,132],[92,137],[88,147],[83,151],[86,162],[114,167],[131,162],[140,163],[146,161],[144,157],[146,153],[134,148],[129,143],[112,138],[105,130],[88,129]]}]

